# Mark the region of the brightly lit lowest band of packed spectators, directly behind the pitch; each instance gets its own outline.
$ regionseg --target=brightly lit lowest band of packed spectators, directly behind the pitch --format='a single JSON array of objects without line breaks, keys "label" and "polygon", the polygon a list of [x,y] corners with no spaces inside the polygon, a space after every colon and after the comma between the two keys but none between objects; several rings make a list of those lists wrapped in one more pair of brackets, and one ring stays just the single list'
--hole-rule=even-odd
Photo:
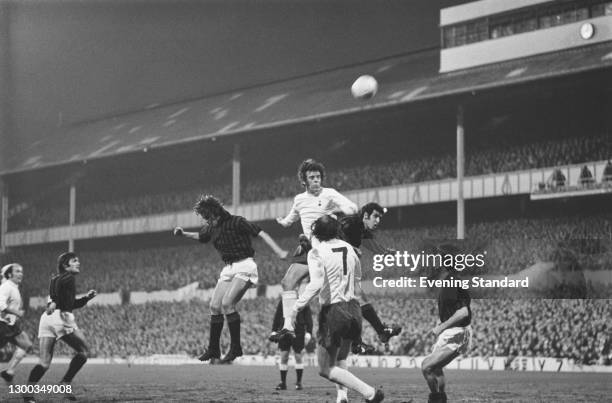
[{"label": "brightly lit lowest band of packed spectators, directly behind the pitch", "polygon": [[[379,354],[427,355],[435,338],[429,331],[438,323],[434,299],[397,296],[372,298],[381,318],[403,327],[388,347],[378,342],[364,322],[364,341]],[[276,301],[256,298],[242,302],[242,343],[245,354],[274,355],[277,346],[266,335]],[[318,303],[313,303],[317,328]],[[25,328],[35,335],[41,311],[28,312]],[[540,356],[569,358],[582,364],[610,365],[612,300],[472,300],[473,343],[470,356]],[[142,305],[88,306],[76,312],[96,357],[202,353],[208,341],[208,303],[155,302]],[[229,347],[224,331],[222,349]],[[58,345],[57,355],[71,350]]]}]

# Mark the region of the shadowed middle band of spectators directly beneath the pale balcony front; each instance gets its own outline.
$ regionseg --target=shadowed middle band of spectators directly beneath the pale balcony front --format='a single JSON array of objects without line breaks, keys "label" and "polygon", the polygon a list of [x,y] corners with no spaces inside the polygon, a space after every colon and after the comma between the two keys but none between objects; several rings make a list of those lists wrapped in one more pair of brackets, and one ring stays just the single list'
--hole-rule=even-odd
[{"label": "shadowed middle band of spectators directly beneath the pale balcony front", "polygon": [[[558,262],[563,250],[578,256],[582,269],[609,268],[612,264],[612,217],[610,215],[570,216],[550,219],[515,219],[481,222],[467,227],[466,238],[473,254],[486,251],[485,266],[474,274],[510,274],[538,262]],[[418,254],[426,250],[428,240],[448,240],[455,236],[450,225],[380,230],[381,244],[398,251]],[[584,245],[567,245],[569,239],[601,240],[597,253],[576,250]],[[281,247],[292,251],[294,237],[277,239]],[[278,259],[264,243],[256,239],[255,259],[261,284],[279,284],[288,263]],[[25,269],[23,290],[29,296],[46,295],[48,281],[56,270],[56,258],[62,252],[52,248],[13,248],[0,256],[0,263],[20,262]],[[216,284],[221,270],[218,253],[210,246],[186,243],[181,246],[150,247],[113,251],[78,251],[82,261],[80,291],[99,292],[175,290],[198,282],[203,289]],[[372,254],[364,249],[363,278],[395,278],[406,275],[405,267],[391,266],[380,272],[372,268]]]}]

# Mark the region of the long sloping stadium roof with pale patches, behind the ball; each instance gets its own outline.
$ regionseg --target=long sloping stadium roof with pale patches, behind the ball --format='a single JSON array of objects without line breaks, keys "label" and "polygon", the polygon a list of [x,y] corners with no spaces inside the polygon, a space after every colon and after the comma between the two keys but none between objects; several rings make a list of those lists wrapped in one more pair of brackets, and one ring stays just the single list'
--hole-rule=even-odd
[{"label": "long sloping stadium roof with pale patches, behind the ball", "polygon": [[[611,67],[612,42],[443,74],[439,50],[428,50],[78,124],[13,153],[0,169],[27,171]],[[361,74],[379,81],[372,100],[350,95]]]}]

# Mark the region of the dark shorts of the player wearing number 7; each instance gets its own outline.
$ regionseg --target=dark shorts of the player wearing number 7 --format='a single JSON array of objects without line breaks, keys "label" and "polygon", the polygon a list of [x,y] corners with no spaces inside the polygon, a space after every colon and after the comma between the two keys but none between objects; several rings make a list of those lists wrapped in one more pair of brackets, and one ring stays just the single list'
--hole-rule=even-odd
[{"label": "dark shorts of the player wearing number 7", "polygon": [[342,339],[361,339],[361,308],[359,302],[338,302],[326,305],[319,312],[317,341],[325,348],[340,347]]}]

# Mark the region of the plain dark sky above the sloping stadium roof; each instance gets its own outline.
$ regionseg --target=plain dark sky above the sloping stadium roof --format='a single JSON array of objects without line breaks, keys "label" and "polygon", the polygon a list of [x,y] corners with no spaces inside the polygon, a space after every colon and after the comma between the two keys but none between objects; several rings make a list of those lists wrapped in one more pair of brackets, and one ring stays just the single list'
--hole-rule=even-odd
[{"label": "plain dark sky above the sloping stadium roof", "polygon": [[439,9],[465,2],[0,0],[0,145],[435,47]]}]

